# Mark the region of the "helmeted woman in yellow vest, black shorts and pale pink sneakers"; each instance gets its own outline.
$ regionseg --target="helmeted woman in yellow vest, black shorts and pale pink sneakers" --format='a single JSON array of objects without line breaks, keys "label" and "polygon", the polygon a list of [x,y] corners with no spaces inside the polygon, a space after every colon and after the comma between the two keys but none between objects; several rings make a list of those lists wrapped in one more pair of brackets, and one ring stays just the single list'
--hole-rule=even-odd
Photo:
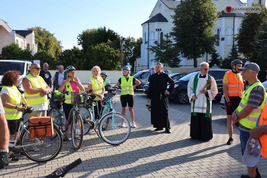
[{"label": "helmeted woman in yellow vest, black shorts and pale pink sneakers", "polygon": [[[122,111],[121,114],[125,116],[126,110],[127,110],[127,103],[128,103],[128,108],[132,120],[132,128],[135,128],[135,122],[134,122],[134,113],[133,113],[133,88],[136,86],[140,85],[141,82],[134,78],[133,76],[130,76],[130,67],[129,66],[123,66],[123,76],[118,80],[117,84],[115,86],[121,86],[121,96],[120,96],[120,101],[121,101],[121,106],[122,106]],[[133,86],[133,83],[136,83]],[[114,87],[115,87],[114,86]],[[124,120],[121,122],[121,127],[125,126]]]}]

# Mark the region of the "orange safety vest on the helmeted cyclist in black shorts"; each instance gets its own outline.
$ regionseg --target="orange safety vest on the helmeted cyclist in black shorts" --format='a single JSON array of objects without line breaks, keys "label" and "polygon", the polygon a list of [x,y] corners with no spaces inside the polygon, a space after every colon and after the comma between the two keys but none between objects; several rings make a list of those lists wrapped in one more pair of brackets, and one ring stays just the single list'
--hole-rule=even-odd
[{"label": "orange safety vest on the helmeted cyclist in black shorts", "polygon": [[237,76],[239,78],[238,83],[238,80],[237,78],[235,78],[234,73],[232,71],[228,71],[225,73],[228,75],[229,82],[227,87],[228,96],[239,96],[240,98],[242,98],[244,93],[244,83],[241,74],[237,73]]}]

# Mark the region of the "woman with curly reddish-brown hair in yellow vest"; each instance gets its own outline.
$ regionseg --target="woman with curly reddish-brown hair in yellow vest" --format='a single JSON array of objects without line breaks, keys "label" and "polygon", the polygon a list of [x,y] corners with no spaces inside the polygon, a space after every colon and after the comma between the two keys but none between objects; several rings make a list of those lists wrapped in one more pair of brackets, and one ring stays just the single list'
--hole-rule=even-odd
[{"label": "woman with curly reddish-brown hair in yellow vest", "polygon": [[[25,98],[18,91],[19,74],[17,71],[8,71],[4,74],[1,83],[3,88],[1,90],[1,100],[5,110],[5,117],[9,127],[9,140],[15,140],[18,133],[18,128],[21,123],[19,118],[22,116],[21,111],[23,109],[30,107],[27,104]],[[25,107],[22,107],[25,104]],[[23,152],[17,151],[12,155],[10,151],[8,153],[10,162],[17,162],[19,159],[17,156],[25,156]]]}]

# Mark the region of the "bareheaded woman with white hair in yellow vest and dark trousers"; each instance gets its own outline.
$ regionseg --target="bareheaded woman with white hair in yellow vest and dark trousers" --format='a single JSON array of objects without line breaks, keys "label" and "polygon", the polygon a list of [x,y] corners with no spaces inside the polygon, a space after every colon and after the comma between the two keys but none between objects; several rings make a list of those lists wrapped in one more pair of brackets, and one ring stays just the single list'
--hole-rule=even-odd
[{"label": "bareheaded woman with white hair in yellow vest and dark trousers", "polygon": [[[99,66],[93,67],[92,73],[93,73],[93,76],[88,79],[87,84],[88,84],[88,91],[93,89],[91,94],[96,95],[94,99],[94,102],[96,103],[96,105],[94,106],[94,112],[95,112],[95,119],[98,120],[100,117],[101,110],[102,110],[101,101],[104,98],[105,87],[103,84],[103,79],[102,77],[100,77],[100,73],[101,73],[100,67]],[[95,130],[98,133],[97,128],[95,128]],[[96,132],[93,129],[91,129],[89,132],[92,135],[96,135]]]}]

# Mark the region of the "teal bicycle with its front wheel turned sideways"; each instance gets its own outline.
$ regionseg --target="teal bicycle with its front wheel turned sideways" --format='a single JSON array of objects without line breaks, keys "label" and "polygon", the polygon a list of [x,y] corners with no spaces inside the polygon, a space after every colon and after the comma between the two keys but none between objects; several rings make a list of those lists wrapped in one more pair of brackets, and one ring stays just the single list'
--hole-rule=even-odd
[{"label": "teal bicycle with its front wheel turned sideways", "polygon": [[[99,120],[95,119],[94,115],[94,106],[96,105],[93,102],[95,95],[89,94],[89,98],[87,100],[87,106],[80,108],[80,114],[83,119],[84,125],[84,134],[87,134],[90,129],[95,129],[98,126],[99,133],[97,135],[108,144],[111,145],[119,145],[125,142],[131,132],[131,126],[129,121],[125,116],[121,113],[115,112],[112,109],[112,101],[111,98],[116,95],[116,90],[119,88],[109,87],[104,94],[105,100],[102,104],[105,104],[103,112],[101,114],[101,118]],[[91,93],[89,91],[89,93]],[[124,126],[121,126],[121,122],[124,120]]]}]

